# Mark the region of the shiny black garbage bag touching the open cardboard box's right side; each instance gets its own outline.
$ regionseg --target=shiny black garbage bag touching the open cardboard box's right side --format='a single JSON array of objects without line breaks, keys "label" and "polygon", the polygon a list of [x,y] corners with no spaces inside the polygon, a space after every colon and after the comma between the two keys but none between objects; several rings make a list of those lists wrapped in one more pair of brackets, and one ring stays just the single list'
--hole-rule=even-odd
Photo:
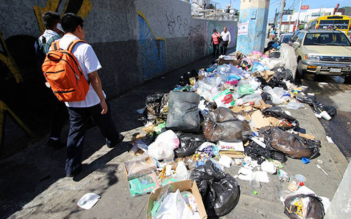
[{"label": "shiny black garbage bag touching the open cardboard box's right side", "polygon": [[239,183],[229,174],[213,166],[211,161],[191,171],[209,217],[228,214],[237,206],[240,197]]}]

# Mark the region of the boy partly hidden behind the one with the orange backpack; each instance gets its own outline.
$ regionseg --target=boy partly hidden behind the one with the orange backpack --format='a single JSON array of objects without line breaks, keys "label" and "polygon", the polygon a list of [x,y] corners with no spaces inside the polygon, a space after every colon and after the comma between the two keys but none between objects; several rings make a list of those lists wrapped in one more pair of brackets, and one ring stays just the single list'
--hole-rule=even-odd
[{"label": "boy partly hidden behind the one with the orange backpack", "polygon": [[[47,11],[42,15],[42,19],[46,29],[44,33],[36,39],[34,44],[38,72],[42,72],[42,65],[51,44],[57,39],[60,39],[63,33],[61,16],[59,13]],[[50,87],[48,83],[46,83],[46,86]],[[64,103],[55,98],[52,111],[54,112],[52,114],[53,122],[47,145],[57,149],[64,148],[65,144],[61,142],[60,135],[65,118],[68,117],[67,108]]]}]

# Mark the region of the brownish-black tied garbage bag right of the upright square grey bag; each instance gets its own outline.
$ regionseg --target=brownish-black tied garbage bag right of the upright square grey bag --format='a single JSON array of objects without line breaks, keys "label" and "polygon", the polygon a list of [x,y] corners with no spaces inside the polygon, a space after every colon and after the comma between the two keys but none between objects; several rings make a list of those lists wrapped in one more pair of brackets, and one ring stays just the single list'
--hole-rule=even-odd
[{"label": "brownish-black tied garbage bag right of the upright square grey bag", "polygon": [[224,107],[206,114],[203,131],[210,142],[245,140],[251,133],[248,122],[239,120],[230,109]]}]

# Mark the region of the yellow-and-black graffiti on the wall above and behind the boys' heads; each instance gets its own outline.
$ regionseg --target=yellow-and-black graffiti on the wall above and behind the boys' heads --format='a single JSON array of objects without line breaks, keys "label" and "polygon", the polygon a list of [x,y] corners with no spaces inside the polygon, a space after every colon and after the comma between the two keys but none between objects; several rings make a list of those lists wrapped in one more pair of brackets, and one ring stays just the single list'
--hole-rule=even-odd
[{"label": "yellow-and-black graffiti on the wall above and behind the boys' heads", "polygon": [[[60,3],[61,0],[48,0],[45,7],[39,7],[37,5],[33,7],[36,21],[38,22],[38,26],[42,32],[45,30],[45,26],[42,21],[42,14],[46,11],[57,11]],[[64,13],[71,12],[83,17],[84,19],[90,13],[91,6],[92,4],[90,0],[67,0]]]}]

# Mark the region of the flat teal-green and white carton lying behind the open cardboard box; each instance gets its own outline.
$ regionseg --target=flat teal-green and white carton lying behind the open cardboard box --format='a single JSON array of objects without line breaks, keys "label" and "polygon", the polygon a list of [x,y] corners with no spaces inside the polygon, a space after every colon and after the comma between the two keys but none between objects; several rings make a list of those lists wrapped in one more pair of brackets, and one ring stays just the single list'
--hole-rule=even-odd
[{"label": "flat teal-green and white carton lying behind the open cardboard box", "polygon": [[129,191],[132,197],[150,193],[153,189],[159,188],[160,184],[155,173],[145,174],[128,181]]}]

